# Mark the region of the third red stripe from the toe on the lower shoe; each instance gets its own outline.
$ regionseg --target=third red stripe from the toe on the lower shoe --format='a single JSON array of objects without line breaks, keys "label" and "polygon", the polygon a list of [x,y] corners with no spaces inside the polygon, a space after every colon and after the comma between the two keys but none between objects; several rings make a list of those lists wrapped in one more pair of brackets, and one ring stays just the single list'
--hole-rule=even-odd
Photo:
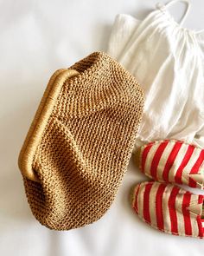
[{"label": "third red stripe from the toe on the lower shoe", "polygon": [[156,221],[159,229],[163,230],[163,192],[166,185],[161,184],[156,193]]}]

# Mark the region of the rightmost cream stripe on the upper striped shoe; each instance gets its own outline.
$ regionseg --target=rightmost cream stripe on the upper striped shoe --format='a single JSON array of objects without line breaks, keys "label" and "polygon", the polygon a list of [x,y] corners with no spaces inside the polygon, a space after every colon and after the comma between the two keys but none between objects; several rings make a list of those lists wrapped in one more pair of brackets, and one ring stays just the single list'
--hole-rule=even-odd
[{"label": "rightmost cream stripe on the upper striped shoe", "polygon": [[191,155],[191,157],[188,161],[188,164],[186,165],[186,167],[183,168],[183,171],[182,171],[182,183],[183,184],[188,185],[188,182],[189,182],[188,174],[190,173],[192,167],[194,167],[194,163],[198,160],[200,154],[201,154],[201,149],[194,148],[194,152]]}]

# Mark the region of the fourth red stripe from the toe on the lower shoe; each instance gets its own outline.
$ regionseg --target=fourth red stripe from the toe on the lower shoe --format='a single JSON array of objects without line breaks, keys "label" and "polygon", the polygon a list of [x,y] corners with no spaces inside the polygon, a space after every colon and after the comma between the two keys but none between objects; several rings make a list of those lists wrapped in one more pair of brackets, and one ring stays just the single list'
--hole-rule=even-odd
[{"label": "fourth red stripe from the toe on the lower shoe", "polygon": [[169,196],[169,215],[170,215],[170,221],[171,221],[171,232],[172,233],[178,233],[178,224],[177,224],[177,216],[175,211],[175,199],[177,194],[179,193],[180,188],[174,187],[171,191],[171,194]]}]

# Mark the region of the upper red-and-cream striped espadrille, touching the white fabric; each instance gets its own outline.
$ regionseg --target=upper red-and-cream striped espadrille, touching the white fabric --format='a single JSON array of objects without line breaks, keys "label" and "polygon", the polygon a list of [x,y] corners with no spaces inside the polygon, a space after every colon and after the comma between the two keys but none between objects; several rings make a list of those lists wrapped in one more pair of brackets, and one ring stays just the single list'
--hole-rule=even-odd
[{"label": "upper red-and-cream striped espadrille, touching the white fabric", "polygon": [[160,182],[204,187],[204,149],[183,141],[153,141],[135,156],[143,174]]}]

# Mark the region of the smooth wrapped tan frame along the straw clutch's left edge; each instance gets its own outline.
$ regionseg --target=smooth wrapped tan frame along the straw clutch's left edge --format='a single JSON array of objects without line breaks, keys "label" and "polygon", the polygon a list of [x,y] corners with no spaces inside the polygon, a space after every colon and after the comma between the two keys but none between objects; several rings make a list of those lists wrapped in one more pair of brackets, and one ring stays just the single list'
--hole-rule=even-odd
[{"label": "smooth wrapped tan frame along the straw clutch's left edge", "polygon": [[22,175],[26,176],[29,180],[39,181],[35,174],[35,170],[32,168],[32,162],[37,145],[41,141],[41,135],[46,128],[49,116],[52,114],[61,87],[68,78],[78,74],[79,72],[76,70],[59,69],[54,72],[54,75],[52,75],[48,82],[48,86],[41,98],[40,105],[36,111],[34,120],[30,125],[28,135],[22,145],[22,150],[18,159]]}]

